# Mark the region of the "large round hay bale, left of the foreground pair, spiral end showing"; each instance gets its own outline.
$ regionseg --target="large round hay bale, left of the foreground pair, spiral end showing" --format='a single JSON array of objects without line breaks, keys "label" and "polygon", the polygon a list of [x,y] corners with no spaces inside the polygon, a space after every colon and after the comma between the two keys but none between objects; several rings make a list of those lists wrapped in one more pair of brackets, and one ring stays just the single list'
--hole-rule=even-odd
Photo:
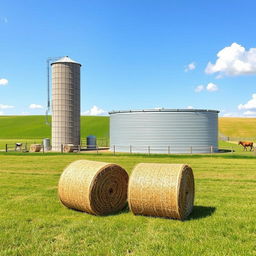
[{"label": "large round hay bale, left of the foreground pair, spiral end showing", "polygon": [[127,188],[128,174],[119,165],[78,160],[63,171],[58,193],[68,208],[107,215],[124,208]]}]

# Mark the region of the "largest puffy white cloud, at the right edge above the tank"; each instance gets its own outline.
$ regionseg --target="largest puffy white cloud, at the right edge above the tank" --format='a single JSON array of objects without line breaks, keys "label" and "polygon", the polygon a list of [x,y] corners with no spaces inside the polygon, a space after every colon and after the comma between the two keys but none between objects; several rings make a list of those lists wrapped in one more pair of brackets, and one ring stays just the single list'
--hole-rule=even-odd
[{"label": "largest puffy white cloud, at the right edge above the tank", "polygon": [[256,48],[248,51],[237,43],[217,53],[215,64],[208,63],[205,73],[218,73],[218,77],[256,74]]}]

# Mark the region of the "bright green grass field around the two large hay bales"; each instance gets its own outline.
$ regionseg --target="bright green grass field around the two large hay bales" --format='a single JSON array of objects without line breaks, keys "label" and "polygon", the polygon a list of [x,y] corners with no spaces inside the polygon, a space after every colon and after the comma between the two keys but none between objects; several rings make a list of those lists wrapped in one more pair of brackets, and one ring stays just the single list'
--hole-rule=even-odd
[{"label": "bright green grass field around the two large hay bales", "polygon": [[[77,159],[188,163],[196,183],[189,220],[96,217],[58,200],[63,168]],[[0,154],[0,255],[256,255],[256,159],[216,156]]]}]

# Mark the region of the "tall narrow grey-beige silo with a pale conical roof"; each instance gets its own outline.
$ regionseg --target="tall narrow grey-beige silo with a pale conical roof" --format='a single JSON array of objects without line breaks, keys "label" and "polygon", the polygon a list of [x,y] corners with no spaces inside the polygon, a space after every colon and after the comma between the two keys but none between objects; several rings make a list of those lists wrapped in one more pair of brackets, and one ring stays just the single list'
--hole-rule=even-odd
[{"label": "tall narrow grey-beige silo with a pale conical roof", "polygon": [[52,66],[52,150],[80,144],[80,67],[63,57]]}]

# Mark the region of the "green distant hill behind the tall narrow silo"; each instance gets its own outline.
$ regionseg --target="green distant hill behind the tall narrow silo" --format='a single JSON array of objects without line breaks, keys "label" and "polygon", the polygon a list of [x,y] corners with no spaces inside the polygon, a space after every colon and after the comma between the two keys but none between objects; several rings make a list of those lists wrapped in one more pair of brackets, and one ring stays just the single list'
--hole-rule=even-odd
[{"label": "green distant hill behind the tall narrow silo", "polygon": [[[109,117],[81,116],[81,137],[95,135],[98,138],[109,136]],[[0,139],[49,138],[50,126],[44,116],[0,116]]]}]

